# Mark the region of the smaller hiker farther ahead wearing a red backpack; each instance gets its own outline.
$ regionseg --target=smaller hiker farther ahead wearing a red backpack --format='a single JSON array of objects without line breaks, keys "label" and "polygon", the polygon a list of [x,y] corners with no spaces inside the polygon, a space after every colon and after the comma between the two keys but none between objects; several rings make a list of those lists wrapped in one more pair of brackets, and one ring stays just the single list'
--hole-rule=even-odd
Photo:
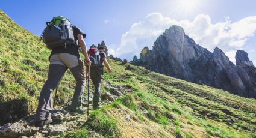
[{"label": "smaller hiker farther ahead wearing a red backpack", "polygon": [[[88,66],[86,69],[86,78],[90,78],[94,85],[94,93],[93,93],[93,110],[96,110],[101,107],[101,79],[103,75],[103,62],[107,67],[108,73],[112,73],[112,68],[110,68],[104,47],[97,47],[93,44],[89,49],[90,60],[92,61],[92,65],[90,66],[90,74],[88,73]],[[99,60],[99,61],[98,61]]]}]

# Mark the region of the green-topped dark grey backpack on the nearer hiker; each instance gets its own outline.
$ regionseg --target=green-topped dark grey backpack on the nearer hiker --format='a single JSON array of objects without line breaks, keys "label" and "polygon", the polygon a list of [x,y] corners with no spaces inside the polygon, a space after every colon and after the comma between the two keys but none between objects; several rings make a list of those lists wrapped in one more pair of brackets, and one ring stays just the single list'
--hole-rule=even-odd
[{"label": "green-topped dark grey backpack on the nearer hiker", "polygon": [[[46,22],[41,39],[50,48],[65,47],[67,44],[77,46],[73,35],[73,27],[67,17],[54,17],[51,22]],[[40,39],[40,41],[41,41]]]}]

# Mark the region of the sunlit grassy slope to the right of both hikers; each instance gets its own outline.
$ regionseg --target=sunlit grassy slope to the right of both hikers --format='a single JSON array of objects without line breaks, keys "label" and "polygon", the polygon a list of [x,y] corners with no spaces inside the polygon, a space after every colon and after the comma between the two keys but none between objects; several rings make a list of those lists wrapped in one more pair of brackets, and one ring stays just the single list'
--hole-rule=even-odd
[{"label": "sunlit grassy slope to the right of both hikers", "polygon": [[143,67],[110,64],[114,73],[105,72],[104,81],[129,85],[135,92],[92,112],[81,129],[106,137],[256,137],[256,100]]}]

